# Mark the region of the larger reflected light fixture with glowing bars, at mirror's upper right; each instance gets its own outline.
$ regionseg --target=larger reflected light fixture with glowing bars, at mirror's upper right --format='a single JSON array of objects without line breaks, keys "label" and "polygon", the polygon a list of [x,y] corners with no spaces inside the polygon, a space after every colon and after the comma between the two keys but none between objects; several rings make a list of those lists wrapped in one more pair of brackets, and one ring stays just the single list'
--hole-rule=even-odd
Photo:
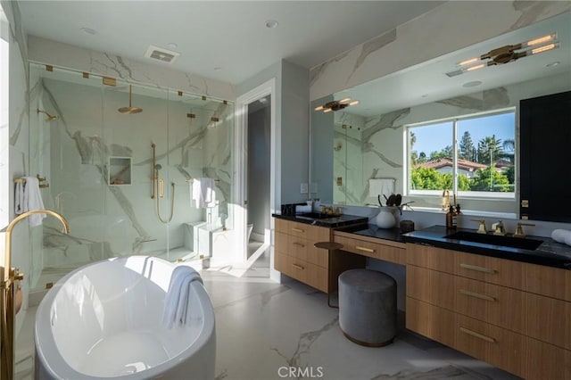
[{"label": "larger reflected light fixture with glowing bars, at mirror's upper right", "polygon": [[[505,45],[490,50],[479,57],[470,58],[457,63],[462,72],[483,69],[487,66],[501,65],[517,61],[529,55],[540,54],[559,47],[557,33],[537,37],[516,45]],[[522,50],[523,49],[523,50]],[[521,50],[517,52],[517,50]],[[491,61],[485,61],[491,60]]]}]

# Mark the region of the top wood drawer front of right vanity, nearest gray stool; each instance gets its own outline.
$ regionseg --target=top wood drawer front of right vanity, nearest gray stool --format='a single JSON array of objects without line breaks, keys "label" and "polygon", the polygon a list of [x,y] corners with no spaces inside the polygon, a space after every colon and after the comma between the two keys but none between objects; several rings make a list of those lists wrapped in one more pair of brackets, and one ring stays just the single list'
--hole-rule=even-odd
[{"label": "top wood drawer front of right vanity, nearest gray stool", "polygon": [[407,247],[407,262],[492,284],[522,289],[525,263],[420,244]]}]

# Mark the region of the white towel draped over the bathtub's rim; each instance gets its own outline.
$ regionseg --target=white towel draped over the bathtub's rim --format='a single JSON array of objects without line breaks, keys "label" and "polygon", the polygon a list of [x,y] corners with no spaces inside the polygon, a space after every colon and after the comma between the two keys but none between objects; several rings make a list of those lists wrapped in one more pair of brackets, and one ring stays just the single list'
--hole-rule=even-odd
[{"label": "white towel draped over the bathtub's rim", "polygon": [[162,326],[172,328],[172,326],[183,326],[190,318],[187,314],[188,304],[191,302],[192,292],[190,285],[193,281],[203,279],[194,268],[181,265],[172,271],[170,276],[169,291],[165,296],[164,310],[162,312]]}]

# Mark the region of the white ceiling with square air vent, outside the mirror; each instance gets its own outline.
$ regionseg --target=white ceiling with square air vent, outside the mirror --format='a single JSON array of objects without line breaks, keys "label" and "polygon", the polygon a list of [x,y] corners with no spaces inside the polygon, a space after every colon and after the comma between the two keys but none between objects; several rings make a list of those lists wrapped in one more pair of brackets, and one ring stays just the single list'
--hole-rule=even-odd
[{"label": "white ceiling with square air vent, outside the mirror", "polygon": [[[443,3],[19,0],[29,35],[233,84],[281,59],[310,69]],[[277,28],[266,28],[269,20]],[[149,45],[180,56],[172,64],[152,61]]]}]

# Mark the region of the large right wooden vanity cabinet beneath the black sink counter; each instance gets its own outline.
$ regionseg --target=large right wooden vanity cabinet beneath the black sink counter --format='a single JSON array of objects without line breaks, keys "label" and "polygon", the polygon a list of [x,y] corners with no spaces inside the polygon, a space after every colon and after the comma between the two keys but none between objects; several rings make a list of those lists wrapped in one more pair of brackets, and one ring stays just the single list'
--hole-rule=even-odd
[{"label": "large right wooden vanity cabinet beneath the black sink counter", "polygon": [[517,376],[568,379],[569,286],[566,269],[408,244],[406,324]]}]

